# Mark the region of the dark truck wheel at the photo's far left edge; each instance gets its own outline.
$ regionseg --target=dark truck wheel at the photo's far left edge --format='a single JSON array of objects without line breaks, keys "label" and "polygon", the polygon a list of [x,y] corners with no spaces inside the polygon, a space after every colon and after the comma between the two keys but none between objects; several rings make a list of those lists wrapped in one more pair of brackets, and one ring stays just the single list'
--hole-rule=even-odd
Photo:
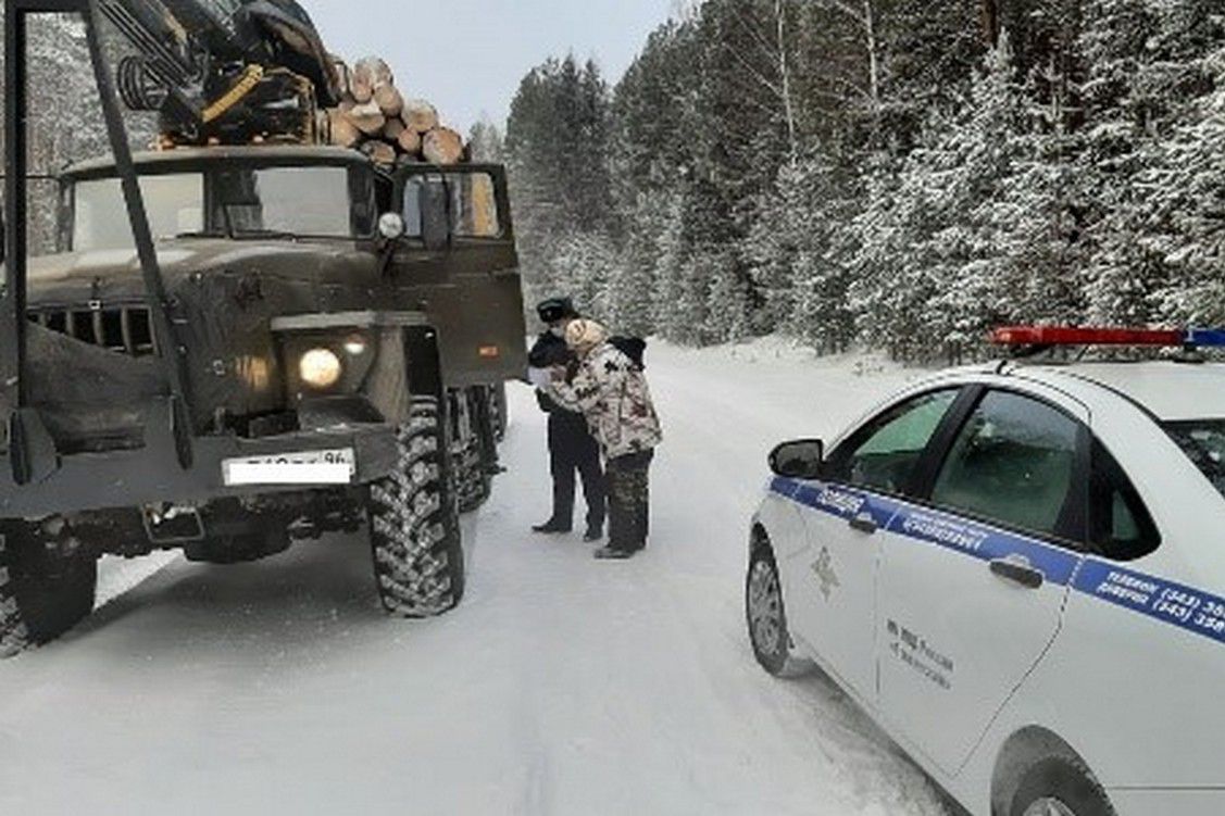
[{"label": "dark truck wheel at the photo's far left edge", "polygon": [[98,562],[92,553],[48,550],[38,527],[0,524],[0,657],[49,643],[93,611]]}]

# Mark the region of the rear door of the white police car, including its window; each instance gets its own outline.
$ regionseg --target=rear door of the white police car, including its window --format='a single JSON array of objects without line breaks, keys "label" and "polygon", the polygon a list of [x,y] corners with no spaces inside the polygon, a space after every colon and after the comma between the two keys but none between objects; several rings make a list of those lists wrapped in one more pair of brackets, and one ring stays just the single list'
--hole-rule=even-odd
[{"label": "rear door of the white police car, including its window", "polygon": [[1050,646],[1080,561],[1088,414],[1056,399],[978,388],[922,466],[927,500],[881,537],[881,713],[949,773]]}]

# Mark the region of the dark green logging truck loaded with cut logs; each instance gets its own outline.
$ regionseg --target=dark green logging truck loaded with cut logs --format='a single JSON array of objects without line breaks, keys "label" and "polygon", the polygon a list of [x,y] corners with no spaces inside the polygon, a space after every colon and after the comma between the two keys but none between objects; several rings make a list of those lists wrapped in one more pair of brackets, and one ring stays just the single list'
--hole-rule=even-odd
[{"label": "dark green logging truck loaded with cut logs", "polygon": [[[27,259],[24,31],[51,11],[85,21],[113,156],[61,175],[58,251]],[[458,517],[526,366],[502,168],[293,2],[5,16],[0,654],[88,615],[104,554],[234,564],[364,529],[390,614],[454,606]],[[136,47],[115,70],[107,21]],[[347,130],[361,82],[399,126]],[[121,103],[159,113],[159,149],[130,151]]]}]

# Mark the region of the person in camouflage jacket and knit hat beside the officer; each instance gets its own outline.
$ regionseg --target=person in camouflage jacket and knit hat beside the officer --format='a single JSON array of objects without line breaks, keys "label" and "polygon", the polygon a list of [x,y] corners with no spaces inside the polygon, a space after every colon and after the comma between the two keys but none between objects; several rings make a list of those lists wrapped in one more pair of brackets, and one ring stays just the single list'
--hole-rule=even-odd
[{"label": "person in camouflage jacket and knit hat beside the officer", "polygon": [[609,342],[593,320],[576,320],[566,343],[577,363],[555,369],[546,391],[559,404],[579,410],[605,457],[609,494],[609,544],[599,559],[630,557],[647,545],[649,469],[663,441],[659,415],[642,365]]}]

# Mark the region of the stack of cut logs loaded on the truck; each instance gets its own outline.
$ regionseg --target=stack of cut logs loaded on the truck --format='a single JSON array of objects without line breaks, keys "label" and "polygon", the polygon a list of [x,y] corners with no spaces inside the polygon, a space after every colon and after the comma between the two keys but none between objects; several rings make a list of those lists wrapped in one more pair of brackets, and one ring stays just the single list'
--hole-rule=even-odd
[{"label": "stack of cut logs loaded on the truck", "polygon": [[344,98],[326,111],[325,136],[339,147],[358,148],[380,164],[408,159],[457,164],[467,154],[463,137],[439,120],[429,102],[405,99],[391,69],[379,58],[350,70],[337,64]]}]

